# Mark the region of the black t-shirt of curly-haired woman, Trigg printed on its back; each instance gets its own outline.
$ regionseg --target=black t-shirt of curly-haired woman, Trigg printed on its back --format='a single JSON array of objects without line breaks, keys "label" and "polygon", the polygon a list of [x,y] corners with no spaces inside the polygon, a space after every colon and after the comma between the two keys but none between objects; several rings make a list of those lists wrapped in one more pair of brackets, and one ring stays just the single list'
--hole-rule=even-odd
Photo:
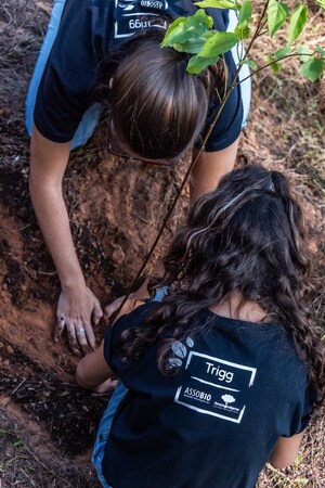
[{"label": "black t-shirt of curly-haired woman, Trigg printed on its back", "polygon": [[251,488],[280,436],[304,429],[312,410],[306,367],[277,323],[257,324],[203,310],[208,332],[174,342],[157,370],[158,346],[122,362],[122,331],[157,304],[123,316],[105,335],[109,368],[129,389],[115,414],[103,459],[114,488]]}]

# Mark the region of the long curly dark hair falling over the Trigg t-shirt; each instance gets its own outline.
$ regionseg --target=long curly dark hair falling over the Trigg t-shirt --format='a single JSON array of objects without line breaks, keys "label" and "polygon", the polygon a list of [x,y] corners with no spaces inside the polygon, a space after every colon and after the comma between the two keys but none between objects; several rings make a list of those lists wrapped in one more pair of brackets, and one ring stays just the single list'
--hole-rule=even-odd
[{"label": "long curly dark hair falling over the Trigg t-shirt", "polygon": [[169,293],[144,326],[122,334],[125,359],[141,356],[158,341],[159,371],[170,374],[170,345],[198,333],[195,314],[240,293],[244,303],[258,304],[268,321],[283,324],[292,337],[322,402],[324,347],[304,305],[310,259],[302,213],[284,175],[248,166],[224,176],[192,205],[164,266],[165,274],[152,279],[150,287],[167,285]]}]

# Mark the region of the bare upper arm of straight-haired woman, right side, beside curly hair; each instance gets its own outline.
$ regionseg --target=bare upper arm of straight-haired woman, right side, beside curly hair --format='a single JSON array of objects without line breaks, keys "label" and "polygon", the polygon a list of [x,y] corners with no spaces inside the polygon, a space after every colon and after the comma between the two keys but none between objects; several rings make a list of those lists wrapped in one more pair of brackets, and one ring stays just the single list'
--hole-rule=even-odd
[{"label": "bare upper arm of straight-haired woman, right side, beside curly hair", "polygon": [[197,196],[214,190],[220,178],[234,168],[238,142],[239,139],[222,151],[200,154],[191,175],[190,195],[192,202]]}]

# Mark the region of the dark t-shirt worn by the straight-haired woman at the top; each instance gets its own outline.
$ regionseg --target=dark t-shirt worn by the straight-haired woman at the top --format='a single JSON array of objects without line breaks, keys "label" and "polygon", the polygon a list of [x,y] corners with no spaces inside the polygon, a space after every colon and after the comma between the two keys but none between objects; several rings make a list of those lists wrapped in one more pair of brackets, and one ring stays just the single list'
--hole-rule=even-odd
[{"label": "dark t-shirt worn by the straight-haired woman at the top", "polygon": [[[91,104],[90,88],[103,57],[139,29],[154,27],[157,15],[186,16],[195,11],[192,0],[67,0],[38,89],[34,112],[38,130],[53,142],[70,141]],[[213,17],[216,29],[226,29],[227,11],[207,9],[207,12]],[[225,61],[232,80],[235,65],[230,52]],[[207,124],[216,110],[218,102],[211,106]],[[239,136],[242,120],[243,103],[237,86],[206,150],[220,151],[232,144]]]}]

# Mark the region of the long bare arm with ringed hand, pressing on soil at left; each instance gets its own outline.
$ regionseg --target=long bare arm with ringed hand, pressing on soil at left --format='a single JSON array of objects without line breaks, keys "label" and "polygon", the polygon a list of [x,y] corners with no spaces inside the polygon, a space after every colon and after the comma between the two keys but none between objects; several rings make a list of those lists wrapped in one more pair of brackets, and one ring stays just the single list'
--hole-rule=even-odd
[{"label": "long bare arm with ringed hand, pressing on soil at left", "polygon": [[78,343],[84,350],[88,344],[95,347],[91,316],[93,313],[94,321],[98,322],[102,310],[99,300],[86,286],[62,195],[62,179],[69,152],[70,143],[49,141],[34,126],[30,143],[30,196],[62,286],[56,338],[66,326],[69,344],[74,352],[78,352]]}]

